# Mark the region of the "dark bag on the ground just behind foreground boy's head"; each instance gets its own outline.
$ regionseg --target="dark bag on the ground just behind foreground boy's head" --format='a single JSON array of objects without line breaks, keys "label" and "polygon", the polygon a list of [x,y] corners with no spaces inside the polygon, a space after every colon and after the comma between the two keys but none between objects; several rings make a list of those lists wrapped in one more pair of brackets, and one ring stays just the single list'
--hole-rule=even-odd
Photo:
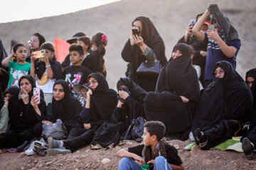
[{"label": "dark bag on the ground just behind foreground boy's head", "polygon": [[[144,132],[144,123],[145,119],[143,117],[138,117],[137,119],[132,120],[132,124],[129,125],[127,132],[125,132],[124,137],[121,137],[122,140],[135,140],[136,142],[142,142],[142,135]],[[132,130],[131,130],[132,129]]]}]

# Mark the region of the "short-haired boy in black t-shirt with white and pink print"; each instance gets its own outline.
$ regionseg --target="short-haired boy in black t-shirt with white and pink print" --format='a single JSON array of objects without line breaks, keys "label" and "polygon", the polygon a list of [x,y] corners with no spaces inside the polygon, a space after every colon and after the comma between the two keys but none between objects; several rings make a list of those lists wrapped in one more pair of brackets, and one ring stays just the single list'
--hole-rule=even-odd
[{"label": "short-haired boy in black t-shirt with white and pink print", "polygon": [[72,44],[69,47],[69,51],[70,62],[72,62],[72,65],[63,70],[63,79],[68,81],[70,89],[72,89],[73,96],[78,97],[78,94],[75,94],[75,91],[73,91],[73,86],[77,84],[85,84],[91,71],[87,67],[81,66],[81,61],[84,57],[84,52],[81,45]]}]

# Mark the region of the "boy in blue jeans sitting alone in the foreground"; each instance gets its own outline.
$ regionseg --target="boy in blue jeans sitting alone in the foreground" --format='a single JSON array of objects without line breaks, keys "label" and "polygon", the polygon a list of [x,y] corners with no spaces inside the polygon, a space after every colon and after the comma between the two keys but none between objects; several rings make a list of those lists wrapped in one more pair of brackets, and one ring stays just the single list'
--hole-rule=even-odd
[{"label": "boy in blue jeans sitting alone in the foreground", "polygon": [[117,157],[122,158],[118,169],[142,169],[139,164],[149,164],[150,169],[154,167],[154,170],[184,169],[177,150],[171,147],[163,138],[165,130],[164,123],[160,121],[146,122],[142,135],[144,144],[120,149],[117,152]]}]

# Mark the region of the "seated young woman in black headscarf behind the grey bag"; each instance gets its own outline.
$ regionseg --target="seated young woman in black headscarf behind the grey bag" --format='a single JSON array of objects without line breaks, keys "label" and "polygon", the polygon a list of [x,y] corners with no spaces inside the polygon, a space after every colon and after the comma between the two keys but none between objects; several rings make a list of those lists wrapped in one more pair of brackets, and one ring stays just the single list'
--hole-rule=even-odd
[{"label": "seated young woman in black headscarf behind the grey bag", "polygon": [[44,121],[44,124],[55,123],[57,119],[62,120],[68,129],[68,138],[73,136],[73,128],[82,128],[79,113],[82,106],[77,98],[71,96],[68,83],[62,79],[53,85],[53,101],[52,101],[52,122]]}]

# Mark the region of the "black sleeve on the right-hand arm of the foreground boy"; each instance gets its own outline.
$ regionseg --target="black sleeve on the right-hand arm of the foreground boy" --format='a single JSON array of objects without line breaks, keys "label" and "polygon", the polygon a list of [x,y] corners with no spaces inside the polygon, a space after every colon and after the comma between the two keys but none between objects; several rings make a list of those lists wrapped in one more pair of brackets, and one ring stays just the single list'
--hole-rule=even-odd
[{"label": "black sleeve on the right-hand arm of the foreground boy", "polygon": [[167,162],[169,164],[181,165],[182,161],[181,158],[178,157],[178,151],[175,147],[170,146],[169,144],[166,145],[166,154],[167,154]]}]

